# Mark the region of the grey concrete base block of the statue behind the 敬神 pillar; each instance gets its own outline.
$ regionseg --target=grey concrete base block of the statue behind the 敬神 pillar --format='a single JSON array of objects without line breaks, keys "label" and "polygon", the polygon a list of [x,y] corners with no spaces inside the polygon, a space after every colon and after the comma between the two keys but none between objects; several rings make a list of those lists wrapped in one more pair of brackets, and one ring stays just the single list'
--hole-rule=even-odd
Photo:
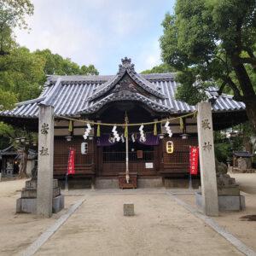
[{"label": "grey concrete base block of the statue behind the \u656c\u795e pillar", "polygon": [[[201,193],[195,194],[196,206],[202,208]],[[245,210],[245,197],[243,195],[236,196],[218,196],[218,210],[221,212],[242,211]]]}]

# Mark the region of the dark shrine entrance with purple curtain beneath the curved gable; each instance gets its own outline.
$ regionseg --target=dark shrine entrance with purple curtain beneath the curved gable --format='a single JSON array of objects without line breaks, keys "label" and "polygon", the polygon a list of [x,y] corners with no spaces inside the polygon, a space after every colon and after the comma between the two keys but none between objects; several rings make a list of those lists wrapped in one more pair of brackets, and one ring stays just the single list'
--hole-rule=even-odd
[{"label": "dark shrine entrance with purple curtain beneath the curved gable", "polygon": [[[146,123],[154,119],[152,113],[134,102],[113,102],[101,113],[102,123],[124,123],[125,113],[129,123]],[[96,143],[97,148],[97,175],[118,176],[125,172],[125,137],[124,128],[118,127],[119,142],[113,140],[112,127],[101,126],[101,137]],[[139,126],[128,127],[128,159],[129,172],[136,172],[138,176],[156,175],[160,164],[160,139],[154,136],[154,125],[145,126],[146,142],[140,139]],[[159,128],[160,129],[160,128]]]}]

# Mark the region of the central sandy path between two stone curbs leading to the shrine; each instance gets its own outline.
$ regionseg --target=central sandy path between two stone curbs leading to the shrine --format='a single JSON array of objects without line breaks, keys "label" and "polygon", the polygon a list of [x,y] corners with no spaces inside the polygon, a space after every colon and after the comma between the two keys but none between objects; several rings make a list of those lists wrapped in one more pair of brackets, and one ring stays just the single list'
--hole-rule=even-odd
[{"label": "central sandy path between two stone curbs leading to the shrine", "polygon": [[[123,216],[123,203],[136,216]],[[242,255],[168,195],[90,195],[36,255]]]}]

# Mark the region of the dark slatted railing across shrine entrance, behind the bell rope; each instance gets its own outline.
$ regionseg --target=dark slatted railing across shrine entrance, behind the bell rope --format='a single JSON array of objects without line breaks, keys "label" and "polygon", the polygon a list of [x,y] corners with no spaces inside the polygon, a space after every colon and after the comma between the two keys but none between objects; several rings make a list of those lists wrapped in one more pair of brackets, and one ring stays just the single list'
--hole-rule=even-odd
[{"label": "dark slatted railing across shrine entrance, behind the bell rope", "polygon": [[[129,161],[154,161],[154,151],[143,151],[143,157],[137,158],[137,152],[129,152]],[[125,152],[103,152],[103,163],[125,162]]]}]

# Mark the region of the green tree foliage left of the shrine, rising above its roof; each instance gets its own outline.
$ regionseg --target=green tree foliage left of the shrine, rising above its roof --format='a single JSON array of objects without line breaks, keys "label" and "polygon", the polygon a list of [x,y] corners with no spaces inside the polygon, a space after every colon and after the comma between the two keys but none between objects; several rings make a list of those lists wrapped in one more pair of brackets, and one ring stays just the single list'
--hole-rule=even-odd
[{"label": "green tree foliage left of the shrine, rising above its roof", "polygon": [[[49,49],[30,52],[15,41],[14,28],[29,30],[26,15],[33,14],[30,0],[2,0],[0,5],[0,110],[15,107],[16,102],[37,98],[46,76],[98,74],[93,65],[79,65]],[[25,131],[0,122],[0,148],[12,143]]]}]

